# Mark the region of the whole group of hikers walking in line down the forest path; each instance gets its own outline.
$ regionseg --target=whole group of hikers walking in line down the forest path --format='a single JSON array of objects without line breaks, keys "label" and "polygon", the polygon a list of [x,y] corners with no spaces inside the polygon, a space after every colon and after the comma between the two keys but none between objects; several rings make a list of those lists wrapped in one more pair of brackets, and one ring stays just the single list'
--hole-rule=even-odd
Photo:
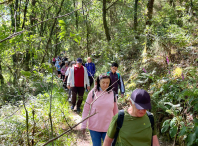
[{"label": "whole group of hikers walking in line down the forest path", "polygon": [[[72,65],[65,77],[68,77],[67,88],[72,96],[71,109],[74,110],[77,101],[77,112],[80,112],[85,89],[89,91],[94,82],[95,65],[90,57],[85,66],[81,58]],[[94,88],[84,104],[82,120],[96,114],[82,123],[82,133],[89,129],[93,146],[101,146],[102,140],[103,146],[159,146],[154,116],[147,111],[151,110],[151,98],[147,91],[134,90],[130,107],[118,110],[118,89],[123,97],[125,87],[117,70],[118,64],[112,63],[109,72],[96,77]]]}]

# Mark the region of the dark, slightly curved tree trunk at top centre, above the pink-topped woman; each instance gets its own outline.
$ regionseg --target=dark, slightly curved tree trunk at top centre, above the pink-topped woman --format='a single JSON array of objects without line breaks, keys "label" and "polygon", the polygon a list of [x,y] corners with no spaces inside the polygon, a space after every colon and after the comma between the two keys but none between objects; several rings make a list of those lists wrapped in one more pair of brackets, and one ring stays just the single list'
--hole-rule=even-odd
[{"label": "dark, slightly curved tree trunk at top centre, above the pink-topped woman", "polygon": [[107,41],[109,42],[111,40],[111,37],[110,37],[110,34],[109,34],[109,28],[107,26],[107,18],[106,18],[106,15],[107,15],[107,11],[106,11],[106,0],[103,0],[103,8],[102,8],[102,11],[103,11],[103,25],[104,25],[104,29],[105,29],[105,34],[106,34],[106,37],[107,37]]}]

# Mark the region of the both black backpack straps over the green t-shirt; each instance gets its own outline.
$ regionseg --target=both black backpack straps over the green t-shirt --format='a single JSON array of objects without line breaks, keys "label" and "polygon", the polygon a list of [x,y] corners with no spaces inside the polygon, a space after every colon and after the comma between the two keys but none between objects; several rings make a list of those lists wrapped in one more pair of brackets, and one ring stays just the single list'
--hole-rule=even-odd
[{"label": "both black backpack straps over the green t-shirt", "polygon": [[[146,113],[147,113],[147,116],[149,117],[149,120],[150,120],[150,123],[151,123],[151,128],[154,131],[154,117],[149,111],[146,111]],[[120,110],[118,112],[116,133],[114,135],[114,139],[113,139],[113,142],[112,142],[111,146],[115,146],[115,144],[116,144],[118,134],[120,132],[120,129],[122,128],[123,121],[124,121],[124,110]],[[152,145],[153,145],[153,136],[152,136],[152,139],[151,139],[151,146]]]}]

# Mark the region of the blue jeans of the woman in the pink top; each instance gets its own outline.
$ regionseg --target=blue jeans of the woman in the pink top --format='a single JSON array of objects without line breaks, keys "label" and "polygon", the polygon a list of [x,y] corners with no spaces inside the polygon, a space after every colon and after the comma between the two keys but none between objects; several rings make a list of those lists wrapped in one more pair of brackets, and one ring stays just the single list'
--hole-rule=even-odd
[{"label": "blue jeans of the woman in the pink top", "polygon": [[97,132],[93,130],[89,131],[93,142],[93,146],[101,146],[101,138],[104,141],[107,132]]}]

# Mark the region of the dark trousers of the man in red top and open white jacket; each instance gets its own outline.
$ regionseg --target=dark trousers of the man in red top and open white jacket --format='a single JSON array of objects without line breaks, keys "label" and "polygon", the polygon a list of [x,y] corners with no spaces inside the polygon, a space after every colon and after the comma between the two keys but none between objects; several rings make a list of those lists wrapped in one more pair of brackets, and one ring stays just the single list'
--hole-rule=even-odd
[{"label": "dark trousers of the man in red top and open white jacket", "polygon": [[84,87],[71,87],[71,92],[72,92],[72,106],[74,107],[76,105],[76,99],[78,96],[78,101],[77,101],[77,108],[80,108],[82,101],[83,101],[83,95],[85,92]]}]

